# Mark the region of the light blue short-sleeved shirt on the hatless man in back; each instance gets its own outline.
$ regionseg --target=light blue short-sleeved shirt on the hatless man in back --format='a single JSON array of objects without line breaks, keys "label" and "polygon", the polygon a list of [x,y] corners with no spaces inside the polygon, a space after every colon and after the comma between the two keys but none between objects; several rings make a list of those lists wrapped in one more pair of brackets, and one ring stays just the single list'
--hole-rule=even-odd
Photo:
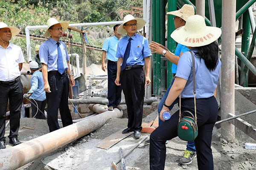
[{"label": "light blue short-sleeved shirt on the hatless man in back", "polygon": [[107,59],[116,62],[118,58],[116,57],[117,43],[119,42],[116,36],[109,37],[105,40],[102,51],[107,52]]}]

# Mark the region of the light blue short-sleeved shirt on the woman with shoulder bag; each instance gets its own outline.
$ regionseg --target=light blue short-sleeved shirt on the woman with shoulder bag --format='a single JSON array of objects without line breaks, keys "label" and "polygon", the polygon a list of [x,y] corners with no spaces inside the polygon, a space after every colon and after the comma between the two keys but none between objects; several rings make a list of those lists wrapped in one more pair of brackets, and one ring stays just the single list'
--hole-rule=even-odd
[{"label": "light blue short-sleeved shirt on the woman with shoulder bag", "polygon": [[[193,51],[192,51],[193,52]],[[194,56],[195,53],[193,52]],[[176,77],[187,80],[187,83],[181,92],[181,98],[192,98],[193,95],[193,70],[192,57],[189,51],[182,54],[177,66]],[[195,89],[196,98],[209,98],[217,87],[218,77],[221,69],[221,60],[218,59],[218,65],[214,71],[209,71],[204,63],[204,59],[195,57]]]}]

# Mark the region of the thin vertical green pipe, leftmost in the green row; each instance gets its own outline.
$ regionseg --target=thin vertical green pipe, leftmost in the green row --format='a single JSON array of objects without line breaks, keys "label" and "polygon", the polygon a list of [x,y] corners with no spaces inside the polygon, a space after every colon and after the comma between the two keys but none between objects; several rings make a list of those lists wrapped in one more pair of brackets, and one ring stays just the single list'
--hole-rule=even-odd
[{"label": "thin vertical green pipe, leftmost in the green row", "polygon": [[[156,42],[156,0],[152,0],[152,32]],[[157,54],[153,54],[153,94],[157,94]]]}]

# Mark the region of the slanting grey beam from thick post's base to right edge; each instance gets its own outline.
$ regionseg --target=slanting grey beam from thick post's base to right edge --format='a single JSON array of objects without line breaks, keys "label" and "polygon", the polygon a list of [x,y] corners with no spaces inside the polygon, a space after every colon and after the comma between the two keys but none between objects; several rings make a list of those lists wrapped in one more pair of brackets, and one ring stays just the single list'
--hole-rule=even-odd
[{"label": "slanting grey beam from thick post's base to right edge", "polygon": [[[231,117],[234,117],[236,115],[229,113],[228,114]],[[239,130],[243,131],[245,134],[250,136],[252,139],[256,140],[256,129],[253,125],[250,123],[244,121],[241,118],[232,119],[229,121],[233,125],[235,125]]]}]

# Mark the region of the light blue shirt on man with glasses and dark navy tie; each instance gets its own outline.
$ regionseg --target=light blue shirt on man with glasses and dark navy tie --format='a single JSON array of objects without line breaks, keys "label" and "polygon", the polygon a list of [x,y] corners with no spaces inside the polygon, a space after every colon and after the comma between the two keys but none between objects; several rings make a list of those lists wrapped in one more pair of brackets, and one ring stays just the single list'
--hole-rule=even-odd
[{"label": "light blue shirt on man with glasses and dark navy tie", "polygon": [[[119,40],[116,50],[117,58],[124,57],[129,38],[130,37],[126,35],[121,40]],[[152,55],[150,49],[148,48],[148,40],[138,34],[134,34],[134,36],[131,38],[131,50],[130,55],[126,61],[126,65],[145,65],[144,58]]]}]

